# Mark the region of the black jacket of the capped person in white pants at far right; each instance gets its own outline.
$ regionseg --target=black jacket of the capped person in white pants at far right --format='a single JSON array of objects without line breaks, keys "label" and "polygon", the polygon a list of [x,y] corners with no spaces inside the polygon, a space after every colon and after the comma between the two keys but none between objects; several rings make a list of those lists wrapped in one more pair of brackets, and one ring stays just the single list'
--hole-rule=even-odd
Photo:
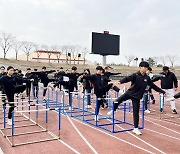
[{"label": "black jacket of the capped person in white pants at far right", "polygon": [[177,78],[175,76],[175,74],[173,72],[168,72],[168,74],[164,74],[164,77],[157,77],[155,79],[153,79],[152,81],[158,81],[161,80],[161,88],[162,89],[172,89],[173,87],[177,88],[178,87],[178,81]]}]

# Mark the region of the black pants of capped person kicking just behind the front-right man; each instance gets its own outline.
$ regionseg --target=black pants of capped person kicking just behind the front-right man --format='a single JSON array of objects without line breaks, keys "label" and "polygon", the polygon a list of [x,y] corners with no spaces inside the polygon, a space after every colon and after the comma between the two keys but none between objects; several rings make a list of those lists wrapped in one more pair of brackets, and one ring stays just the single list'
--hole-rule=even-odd
[{"label": "black pants of capped person kicking just behind the front-right man", "polygon": [[96,98],[97,98],[97,101],[96,101],[96,110],[95,110],[95,114],[99,114],[99,108],[100,106],[102,105],[103,106],[103,96],[104,96],[104,93],[108,92],[111,87],[112,87],[112,83],[111,84],[108,84],[106,86],[104,86],[103,88],[99,89],[98,92],[96,92]]}]

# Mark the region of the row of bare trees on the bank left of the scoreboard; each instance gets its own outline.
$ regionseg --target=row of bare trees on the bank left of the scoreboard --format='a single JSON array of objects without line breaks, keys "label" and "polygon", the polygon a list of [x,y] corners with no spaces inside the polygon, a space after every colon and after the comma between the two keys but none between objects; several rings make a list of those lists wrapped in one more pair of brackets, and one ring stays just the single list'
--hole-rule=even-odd
[{"label": "row of bare trees on the bank left of the scoreboard", "polygon": [[[32,51],[45,50],[47,52],[49,63],[51,62],[51,56],[56,53],[58,63],[60,62],[61,55],[64,54],[66,57],[66,63],[71,64],[72,61],[76,62],[76,59],[83,58],[83,63],[86,62],[86,56],[88,54],[88,49],[80,45],[52,45],[47,46],[45,44],[39,45],[30,41],[19,41],[17,37],[11,33],[1,32],[0,33],[0,47],[3,51],[3,57],[6,58],[7,53],[10,50],[13,50],[15,53],[15,58],[18,60],[18,54],[20,51],[23,51],[26,54],[27,61],[29,60],[30,53]],[[60,51],[60,52],[57,52]],[[37,60],[40,57],[41,53],[37,52]],[[77,61],[79,63],[79,61]]]}]

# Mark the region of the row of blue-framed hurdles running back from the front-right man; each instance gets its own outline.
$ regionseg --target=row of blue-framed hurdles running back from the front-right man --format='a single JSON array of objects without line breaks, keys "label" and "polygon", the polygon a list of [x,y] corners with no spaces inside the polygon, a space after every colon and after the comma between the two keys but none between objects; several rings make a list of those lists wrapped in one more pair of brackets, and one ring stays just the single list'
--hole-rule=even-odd
[{"label": "row of blue-framed hurdles running back from the front-right man", "polygon": [[[121,110],[123,111],[123,120],[118,120],[115,118],[115,116],[113,116],[112,118],[110,118],[109,116],[105,116],[105,115],[101,115],[99,114],[100,118],[99,120],[110,120],[111,122],[110,123],[105,123],[105,124],[100,124],[97,120],[95,123],[93,123],[92,121],[94,121],[94,118],[90,118],[88,119],[88,117],[90,116],[96,116],[96,119],[97,119],[97,113],[94,113],[90,110],[86,110],[85,109],[85,95],[83,95],[82,97],[82,106],[80,106],[80,99],[78,99],[79,101],[77,102],[76,105],[73,104],[73,94],[77,92],[71,92],[70,93],[70,106],[69,105],[66,105],[65,104],[65,101],[63,99],[63,104],[62,104],[62,113],[65,114],[65,115],[68,115],[69,117],[72,117],[72,118],[75,118],[75,119],[78,119],[78,120],[81,120],[83,122],[86,122],[88,124],[91,124],[93,126],[96,126],[96,127],[99,127],[101,129],[104,129],[106,131],[109,131],[109,132],[112,132],[112,133],[117,133],[117,132],[125,132],[125,131],[131,131],[133,130],[134,128],[130,128],[130,129],[124,129],[124,130],[116,130],[115,129],[115,125],[117,124],[127,124],[127,125],[130,125],[130,126],[134,126],[134,124],[130,123],[127,121],[126,119],[126,114],[128,113],[127,111],[129,110],[129,106],[127,106],[126,102],[123,103],[123,105],[121,105],[121,107],[118,108],[118,110]],[[116,94],[117,96],[117,94]],[[62,98],[64,98],[64,95],[62,96]],[[108,100],[108,103],[110,104],[111,103],[111,100],[115,100],[116,98],[110,98],[110,96],[106,96],[106,98],[102,98],[102,99],[107,99]],[[97,99],[96,99],[96,102],[98,103]],[[96,103],[96,108],[97,108],[97,104]],[[70,111],[66,111],[66,107],[70,107]],[[111,109],[114,108],[114,102],[112,103],[111,105]],[[113,113],[114,115],[114,113]],[[111,129],[107,129],[105,128],[106,126],[112,126]],[[144,103],[142,102],[142,122],[141,122],[141,126],[139,126],[139,129],[143,129],[144,128]]]}]

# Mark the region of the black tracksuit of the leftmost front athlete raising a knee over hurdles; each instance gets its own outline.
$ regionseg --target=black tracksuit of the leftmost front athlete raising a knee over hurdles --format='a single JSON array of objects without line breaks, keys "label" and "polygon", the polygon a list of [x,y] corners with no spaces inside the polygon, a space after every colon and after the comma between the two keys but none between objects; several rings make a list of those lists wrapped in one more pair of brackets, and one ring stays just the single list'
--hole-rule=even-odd
[{"label": "black tracksuit of the leftmost front athlete raising a knee over hurdles", "polygon": [[[7,96],[8,102],[14,102],[14,94],[15,93],[22,93],[26,86],[25,85],[18,85],[17,86],[17,82],[18,83],[23,83],[23,82],[30,82],[29,80],[23,80],[17,76],[3,76],[0,78],[0,84],[2,84],[4,86],[4,91],[5,94]],[[8,112],[8,118],[11,119],[12,118],[12,111],[14,110],[14,103],[10,103],[9,104],[11,107],[9,108],[9,112]]]}]

